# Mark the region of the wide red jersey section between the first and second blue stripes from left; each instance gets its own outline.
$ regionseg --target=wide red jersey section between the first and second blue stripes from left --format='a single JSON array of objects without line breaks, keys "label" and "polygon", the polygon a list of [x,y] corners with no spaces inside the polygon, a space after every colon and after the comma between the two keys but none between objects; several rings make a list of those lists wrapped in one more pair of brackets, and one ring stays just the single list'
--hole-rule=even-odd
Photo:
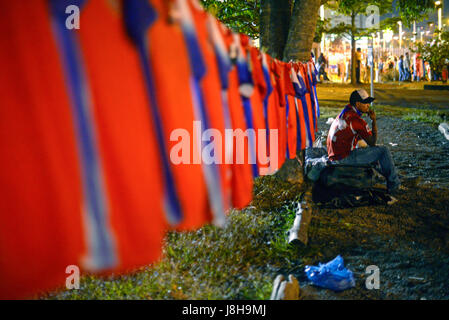
[{"label": "wide red jersey section between the first and second blue stripes from left", "polygon": [[160,200],[162,165],[143,75],[120,11],[105,1],[89,1],[79,30],[116,237],[119,264],[114,272],[156,261],[168,228]]}]

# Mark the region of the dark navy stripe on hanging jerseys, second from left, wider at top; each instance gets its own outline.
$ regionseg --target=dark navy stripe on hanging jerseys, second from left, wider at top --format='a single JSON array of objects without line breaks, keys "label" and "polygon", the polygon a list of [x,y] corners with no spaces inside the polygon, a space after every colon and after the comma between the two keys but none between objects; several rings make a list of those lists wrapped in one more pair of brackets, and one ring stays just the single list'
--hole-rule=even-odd
[{"label": "dark navy stripe on hanging jerseys, second from left, wider at top", "polygon": [[152,124],[155,128],[156,138],[159,146],[159,155],[162,162],[164,177],[164,209],[167,221],[175,226],[183,219],[183,213],[176,192],[175,180],[170,168],[167,145],[163,130],[162,119],[159,114],[158,101],[156,98],[156,86],[153,79],[153,71],[149,57],[149,43],[146,36],[148,28],[157,18],[157,13],[147,0],[127,0],[123,2],[123,14],[126,31],[137,47],[142,72],[145,78],[145,86],[150,102]]}]

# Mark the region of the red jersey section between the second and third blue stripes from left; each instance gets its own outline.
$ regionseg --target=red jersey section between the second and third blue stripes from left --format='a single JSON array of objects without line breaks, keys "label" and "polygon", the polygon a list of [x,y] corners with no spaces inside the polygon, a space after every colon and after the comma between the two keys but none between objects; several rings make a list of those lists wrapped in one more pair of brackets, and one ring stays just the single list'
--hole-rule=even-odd
[{"label": "red jersey section between the second and third blue stripes from left", "polygon": [[[159,18],[148,30],[149,56],[165,135],[170,137],[174,130],[182,128],[193,137],[192,123],[196,118],[192,93],[186,85],[190,81],[191,69],[182,30],[177,23],[168,22],[170,13],[166,1],[153,0],[151,5]],[[179,142],[173,140],[168,141],[169,150]],[[192,146],[190,152],[193,155],[197,150]],[[201,164],[179,163],[171,169],[184,213],[184,220],[177,229],[192,230],[210,222],[212,215]]]}]

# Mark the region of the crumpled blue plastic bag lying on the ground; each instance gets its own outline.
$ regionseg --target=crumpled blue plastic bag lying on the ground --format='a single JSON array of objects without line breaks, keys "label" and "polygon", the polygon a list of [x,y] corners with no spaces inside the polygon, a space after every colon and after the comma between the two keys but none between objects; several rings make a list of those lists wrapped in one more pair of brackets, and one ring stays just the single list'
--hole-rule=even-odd
[{"label": "crumpled blue plastic bag lying on the ground", "polygon": [[307,278],[316,286],[343,291],[355,287],[355,280],[352,271],[345,268],[343,258],[338,255],[334,260],[326,264],[316,266],[306,266]]}]

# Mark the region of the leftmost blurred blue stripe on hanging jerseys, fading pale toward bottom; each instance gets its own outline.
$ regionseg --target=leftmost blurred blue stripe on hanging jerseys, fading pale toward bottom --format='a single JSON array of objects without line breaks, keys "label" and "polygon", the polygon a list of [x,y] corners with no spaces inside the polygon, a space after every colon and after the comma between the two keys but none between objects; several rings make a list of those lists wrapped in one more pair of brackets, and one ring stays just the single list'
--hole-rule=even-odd
[{"label": "leftmost blurred blue stripe on hanging jerseys, fading pale toward bottom", "polygon": [[96,133],[86,77],[83,70],[77,34],[65,26],[65,9],[74,4],[78,7],[84,1],[50,0],[52,23],[64,61],[65,77],[75,117],[77,144],[82,170],[84,205],[86,210],[86,231],[88,257],[86,267],[93,270],[113,268],[118,263],[113,233],[109,226],[107,194],[104,187],[103,170],[96,144]]}]

